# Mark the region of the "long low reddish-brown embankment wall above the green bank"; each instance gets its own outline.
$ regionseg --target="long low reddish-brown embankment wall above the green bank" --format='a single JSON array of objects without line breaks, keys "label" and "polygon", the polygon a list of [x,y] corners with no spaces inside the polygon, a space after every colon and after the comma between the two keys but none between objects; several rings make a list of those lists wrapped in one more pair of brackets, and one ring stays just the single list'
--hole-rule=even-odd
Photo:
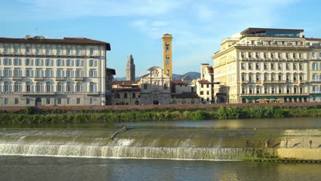
[{"label": "long low reddish-brown embankment wall above the green bank", "polygon": [[[38,108],[42,110],[132,110],[132,109],[205,109],[205,108],[219,108],[221,106],[229,107],[263,107],[263,106],[318,106],[321,102],[292,102],[292,103],[259,103],[259,104],[166,104],[166,105],[115,105],[115,106],[40,106]],[[23,106],[12,106],[12,107],[0,107],[0,110],[24,110],[26,107]]]}]

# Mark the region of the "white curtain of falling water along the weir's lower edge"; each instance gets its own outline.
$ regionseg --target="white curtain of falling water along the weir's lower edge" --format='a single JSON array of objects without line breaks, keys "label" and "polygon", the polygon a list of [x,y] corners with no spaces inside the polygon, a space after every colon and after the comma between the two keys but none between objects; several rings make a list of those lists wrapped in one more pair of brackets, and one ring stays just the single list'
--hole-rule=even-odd
[{"label": "white curtain of falling water along the weir's lower edge", "polygon": [[0,154],[27,156],[243,160],[256,156],[264,158],[264,153],[265,149],[244,148],[0,144]]}]

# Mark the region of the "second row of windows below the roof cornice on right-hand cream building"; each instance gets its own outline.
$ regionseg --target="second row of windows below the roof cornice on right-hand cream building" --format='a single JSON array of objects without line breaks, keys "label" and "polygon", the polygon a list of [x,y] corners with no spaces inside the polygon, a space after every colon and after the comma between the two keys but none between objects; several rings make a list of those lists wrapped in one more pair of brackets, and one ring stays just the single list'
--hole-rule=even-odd
[{"label": "second row of windows below the roof cornice on right-hand cream building", "polygon": [[[261,68],[263,68],[264,70],[275,70],[276,67],[278,68],[278,70],[283,70],[283,63],[263,63],[263,67],[262,64],[260,63],[252,63],[252,62],[241,62],[241,70],[246,70],[246,68],[248,70],[252,70],[252,69],[256,70],[261,70]],[[285,64],[285,70],[290,71],[292,67],[292,70],[303,70],[303,64],[302,63],[286,63]]]}]

